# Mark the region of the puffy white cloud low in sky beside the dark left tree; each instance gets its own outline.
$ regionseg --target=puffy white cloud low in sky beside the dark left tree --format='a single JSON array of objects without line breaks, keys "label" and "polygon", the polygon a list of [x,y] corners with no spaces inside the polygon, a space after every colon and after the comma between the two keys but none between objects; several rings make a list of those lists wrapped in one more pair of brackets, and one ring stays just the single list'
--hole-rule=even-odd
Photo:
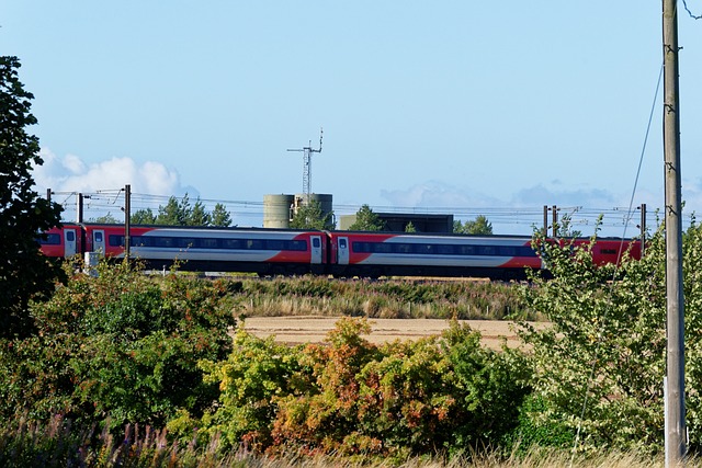
[{"label": "puffy white cloud low in sky beside the dark left tree", "polygon": [[44,164],[34,168],[37,191],[94,193],[132,185],[135,193],[171,196],[184,192],[180,175],[160,162],[138,164],[131,158],[112,158],[87,164],[76,155],[59,158],[48,148],[39,152]]}]

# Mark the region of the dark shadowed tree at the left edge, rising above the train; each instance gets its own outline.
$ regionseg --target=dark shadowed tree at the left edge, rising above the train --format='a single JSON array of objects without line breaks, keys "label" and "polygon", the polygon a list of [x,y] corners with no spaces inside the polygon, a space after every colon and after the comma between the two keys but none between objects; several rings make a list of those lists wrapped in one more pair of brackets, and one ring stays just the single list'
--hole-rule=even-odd
[{"label": "dark shadowed tree at the left edge, rising above the train", "polygon": [[18,77],[20,60],[0,56],[0,336],[26,336],[34,331],[27,312],[31,299],[46,297],[59,267],[39,252],[37,232],[60,224],[61,207],[32,189],[39,140],[25,127],[34,95]]}]

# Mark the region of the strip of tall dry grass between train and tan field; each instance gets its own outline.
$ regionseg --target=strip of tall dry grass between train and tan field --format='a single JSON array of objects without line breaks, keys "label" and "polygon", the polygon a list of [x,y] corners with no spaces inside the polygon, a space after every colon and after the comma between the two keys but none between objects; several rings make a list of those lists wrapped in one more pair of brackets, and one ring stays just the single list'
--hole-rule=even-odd
[{"label": "strip of tall dry grass between train and tan field", "polygon": [[501,283],[330,281],[319,277],[245,279],[230,287],[246,316],[349,316],[539,320],[517,288]]}]

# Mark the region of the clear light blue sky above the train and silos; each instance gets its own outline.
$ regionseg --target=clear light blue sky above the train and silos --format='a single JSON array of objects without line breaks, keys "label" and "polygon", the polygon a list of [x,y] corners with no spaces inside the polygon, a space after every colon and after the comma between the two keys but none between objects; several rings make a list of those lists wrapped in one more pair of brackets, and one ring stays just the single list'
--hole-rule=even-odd
[{"label": "clear light blue sky above the train and silos", "polygon": [[[702,13],[702,1],[688,5]],[[332,194],[339,215],[361,204],[486,214],[510,233],[558,205],[581,207],[586,233],[586,218],[607,213],[621,235],[610,216],[632,198],[663,61],[660,9],[5,0],[0,44],[35,95],[37,186],[59,201],[129,183],[157,196],[137,207],[188,192],[260,225],[264,194],[302,191],[302,153],[286,149],[317,147],[324,127],[312,189]],[[702,208],[702,21],[681,11],[679,41],[691,213]],[[661,93],[633,196],[652,212],[663,205]]]}]

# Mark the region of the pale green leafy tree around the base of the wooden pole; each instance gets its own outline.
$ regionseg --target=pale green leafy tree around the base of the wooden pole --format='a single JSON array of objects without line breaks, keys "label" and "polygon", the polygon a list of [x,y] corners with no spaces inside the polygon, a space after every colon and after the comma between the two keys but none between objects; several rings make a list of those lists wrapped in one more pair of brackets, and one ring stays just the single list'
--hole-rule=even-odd
[{"label": "pale green leafy tree around the base of the wooden pole", "polygon": [[[695,228],[697,230],[697,228]],[[702,236],[686,248],[688,381],[699,391],[701,353]],[[593,238],[593,240],[596,240]],[[523,326],[532,347],[535,393],[541,402],[530,415],[536,427],[566,427],[580,442],[618,448],[661,447],[664,434],[663,377],[666,347],[665,247],[659,230],[641,261],[624,258],[596,265],[592,243],[563,246],[534,240],[553,278],[535,274],[522,293],[529,307],[551,323]],[[700,427],[700,401],[691,402],[689,419]],[[692,427],[691,427],[692,429]],[[699,434],[691,431],[691,434]],[[573,441],[570,441],[573,443]],[[692,438],[700,444],[699,435]]]}]

